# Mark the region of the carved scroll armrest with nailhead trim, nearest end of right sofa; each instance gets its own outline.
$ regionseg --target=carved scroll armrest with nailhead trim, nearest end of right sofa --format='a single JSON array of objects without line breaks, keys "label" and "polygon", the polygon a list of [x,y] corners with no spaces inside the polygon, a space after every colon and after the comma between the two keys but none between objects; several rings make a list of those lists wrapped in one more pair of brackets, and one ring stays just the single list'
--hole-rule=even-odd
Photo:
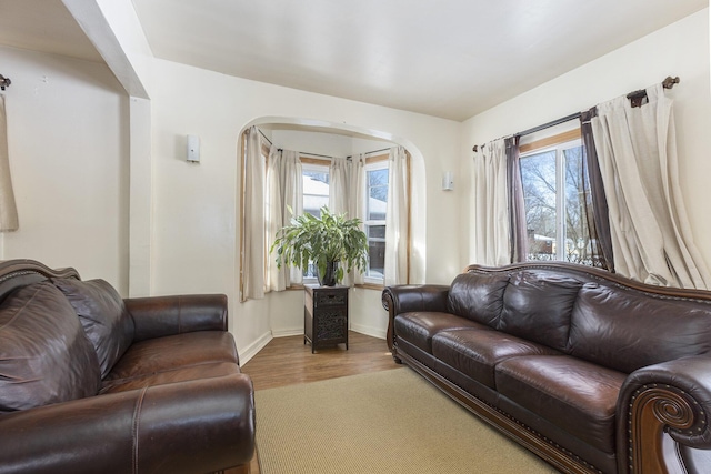
[{"label": "carved scroll armrest with nailhead trim, nearest end of right sofa", "polygon": [[711,356],[697,355],[634,371],[617,407],[620,472],[667,472],[678,456],[668,434],[690,448],[711,448]]}]

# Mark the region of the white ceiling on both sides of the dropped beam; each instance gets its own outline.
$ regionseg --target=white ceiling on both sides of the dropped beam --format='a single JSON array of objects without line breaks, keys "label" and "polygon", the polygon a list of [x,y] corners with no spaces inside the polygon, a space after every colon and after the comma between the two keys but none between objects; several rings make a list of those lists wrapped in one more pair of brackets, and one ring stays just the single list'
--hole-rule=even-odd
[{"label": "white ceiling on both sides of the dropped beam", "polygon": [[[708,6],[707,0],[132,2],[158,58],[452,120]],[[60,0],[0,0],[0,44],[99,60]]]}]

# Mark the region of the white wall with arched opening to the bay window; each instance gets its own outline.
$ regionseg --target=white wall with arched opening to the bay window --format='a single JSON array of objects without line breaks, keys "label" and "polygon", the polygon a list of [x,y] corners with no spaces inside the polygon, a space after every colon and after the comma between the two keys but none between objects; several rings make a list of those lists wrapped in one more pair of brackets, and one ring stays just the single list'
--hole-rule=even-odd
[{"label": "white wall with arched opening to the bay window", "polygon": [[[358,130],[384,132],[421,153],[419,215],[425,216],[418,246],[422,280],[450,282],[461,270],[460,215],[455,194],[440,190],[441,173],[460,154],[461,124],[427,115],[227,77],[156,60],[151,91],[153,130],[153,274],[156,294],[222,292],[229,295],[232,330],[241,354],[264,341],[274,319],[300,321],[299,292],[238,301],[238,147],[240,132],[266,117],[303,118]],[[201,139],[201,163],[184,161],[184,137]],[[310,151],[310,150],[309,150]],[[451,244],[442,245],[443,241]],[[424,252],[423,243],[428,245]],[[454,250],[453,250],[454,249]],[[372,302],[371,302],[372,303]],[[380,327],[385,313],[368,310]],[[279,316],[277,316],[279,315]]]}]

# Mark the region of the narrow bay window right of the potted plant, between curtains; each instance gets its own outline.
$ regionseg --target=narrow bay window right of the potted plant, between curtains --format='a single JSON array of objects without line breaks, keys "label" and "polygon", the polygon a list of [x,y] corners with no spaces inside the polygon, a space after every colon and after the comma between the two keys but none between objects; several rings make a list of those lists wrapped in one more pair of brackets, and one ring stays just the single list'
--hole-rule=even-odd
[{"label": "narrow bay window right of the potted plant, between curtains", "polygon": [[385,160],[365,164],[365,234],[368,235],[368,269],[365,281],[382,283],[385,272],[385,214],[388,211],[389,169]]}]

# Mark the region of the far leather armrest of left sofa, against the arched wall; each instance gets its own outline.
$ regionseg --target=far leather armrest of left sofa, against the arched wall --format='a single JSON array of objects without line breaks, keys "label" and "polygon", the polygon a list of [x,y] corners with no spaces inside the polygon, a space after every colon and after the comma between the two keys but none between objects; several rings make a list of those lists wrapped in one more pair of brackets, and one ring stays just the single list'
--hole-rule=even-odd
[{"label": "far leather armrest of left sofa, against the arched wall", "polygon": [[123,300],[136,325],[134,341],[194,331],[227,331],[227,296],[189,294]]}]

